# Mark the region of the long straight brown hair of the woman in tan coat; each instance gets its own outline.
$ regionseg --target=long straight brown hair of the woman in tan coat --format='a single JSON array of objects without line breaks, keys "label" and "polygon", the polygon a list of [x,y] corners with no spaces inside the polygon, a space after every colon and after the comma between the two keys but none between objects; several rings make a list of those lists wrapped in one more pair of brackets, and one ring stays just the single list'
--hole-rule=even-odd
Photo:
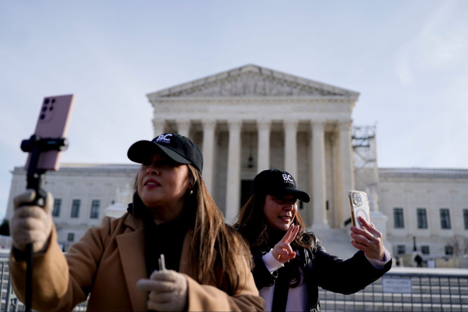
[{"label": "long straight brown hair of the woman in tan coat", "polygon": [[[224,223],[224,216],[206,188],[201,173],[192,165],[188,178],[190,187],[184,197],[183,214],[190,220],[192,235],[190,240],[190,263],[196,268],[197,282],[202,283],[213,270],[219,284],[227,285],[227,293],[233,295],[246,276],[239,276],[238,260],[245,259],[248,269],[252,268],[249,247],[241,235]],[[134,190],[137,191],[137,178]],[[248,271],[245,272],[248,274]]]}]

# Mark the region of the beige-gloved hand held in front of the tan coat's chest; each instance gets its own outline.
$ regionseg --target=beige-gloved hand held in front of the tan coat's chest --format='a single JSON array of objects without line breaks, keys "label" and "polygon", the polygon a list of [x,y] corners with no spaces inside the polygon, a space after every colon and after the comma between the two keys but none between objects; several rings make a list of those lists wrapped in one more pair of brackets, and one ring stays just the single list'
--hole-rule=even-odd
[{"label": "beige-gloved hand held in front of the tan coat's chest", "polygon": [[140,279],[137,287],[149,291],[148,310],[184,311],[187,304],[187,278],[174,270],[154,271],[149,279]]}]

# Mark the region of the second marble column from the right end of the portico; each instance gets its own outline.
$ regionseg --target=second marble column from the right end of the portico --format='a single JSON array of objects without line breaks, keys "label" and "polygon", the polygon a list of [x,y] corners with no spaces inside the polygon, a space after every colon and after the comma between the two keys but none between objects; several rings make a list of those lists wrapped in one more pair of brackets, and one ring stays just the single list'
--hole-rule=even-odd
[{"label": "second marble column from the right end of the portico", "polygon": [[324,123],[312,123],[312,209],[313,223],[312,228],[322,229],[328,228],[327,220],[327,193],[325,181],[325,133],[323,130]]}]

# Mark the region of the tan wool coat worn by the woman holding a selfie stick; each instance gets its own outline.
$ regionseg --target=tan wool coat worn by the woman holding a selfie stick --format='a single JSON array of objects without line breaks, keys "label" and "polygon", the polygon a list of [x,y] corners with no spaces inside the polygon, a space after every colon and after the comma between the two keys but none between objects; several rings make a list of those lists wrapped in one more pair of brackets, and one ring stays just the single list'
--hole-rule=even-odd
[{"label": "tan wool coat worn by the woman holding a selfie stick", "polygon": [[[220,284],[214,272],[202,284],[196,281],[189,254],[190,231],[185,235],[179,267],[188,281],[188,311],[263,311],[264,301],[246,261],[236,261],[240,287],[229,296],[227,285]],[[11,254],[9,266],[15,293],[24,302],[26,261],[16,261]],[[141,219],[130,213],[117,219],[104,217],[66,255],[57,243],[54,227],[47,250],[34,256],[32,308],[71,311],[91,293],[88,311],[147,311],[148,293],[136,287],[141,278],[147,278]]]}]

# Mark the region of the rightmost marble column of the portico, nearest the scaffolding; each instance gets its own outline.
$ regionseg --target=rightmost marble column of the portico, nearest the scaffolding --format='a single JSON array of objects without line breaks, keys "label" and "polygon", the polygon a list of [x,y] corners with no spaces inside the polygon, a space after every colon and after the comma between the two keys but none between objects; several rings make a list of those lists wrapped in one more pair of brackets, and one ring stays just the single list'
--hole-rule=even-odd
[{"label": "rightmost marble column of the portico, nearest the scaffolding", "polygon": [[344,220],[350,216],[349,199],[348,193],[351,189],[354,189],[354,163],[353,163],[353,151],[351,144],[351,121],[343,121],[339,123],[339,140],[340,140],[340,169],[341,169],[341,184],[342,194],[341,211],[343,218],[339,220],[338,226],[344,226]]}]

